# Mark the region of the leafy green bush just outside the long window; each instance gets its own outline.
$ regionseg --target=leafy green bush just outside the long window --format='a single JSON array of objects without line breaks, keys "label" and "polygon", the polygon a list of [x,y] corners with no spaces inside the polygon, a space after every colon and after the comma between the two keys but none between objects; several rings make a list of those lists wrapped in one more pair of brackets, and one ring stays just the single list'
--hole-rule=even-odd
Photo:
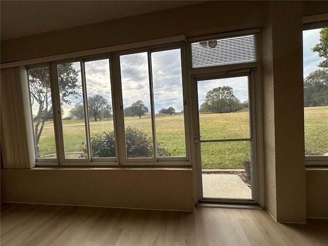
[{"label": "leafy green bush just outside the long window", "polygon": [[[127,127],[126,147],[128,158],[152,157],[153,142],[152,138],[146,133],[132,127]],[[92,157],[115,157],[115,136],[114,132],[95,133],[91,136]],[[84,143],[83,154],[80,158],[87,157],[87,145]],[[156,143],[158,156],[171,156],[162,142]]]}]

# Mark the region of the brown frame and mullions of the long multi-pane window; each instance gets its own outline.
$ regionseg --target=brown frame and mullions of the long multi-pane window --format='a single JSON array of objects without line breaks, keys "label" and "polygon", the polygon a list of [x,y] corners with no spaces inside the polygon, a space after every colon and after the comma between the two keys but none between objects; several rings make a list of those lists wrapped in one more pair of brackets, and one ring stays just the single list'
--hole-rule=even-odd
[{"label": "brown frame and mullions of the long multi-pane window", "polygon": [[[151,58],[151,53],[156,51],[165,51],[180,49],[181,58],[181,76],[182,76],[182,96],[183,96],[183,111],[184,111],[184,127],[185,127],[185,146],[186,146],[186,156],[185,157],[156,157],[154,156],[150,160],[147,158],[127,158],[125,150],[125,128],[124,128],[124,114],[122,110],[122,88],[120,79],[120,66],[119,66],[119,55],[121,54],[132,54],[142,51],[148,52],[148,58]],[[116,157],[109,158],[93,158],[91,156],[90,148],[90,126],[89,126],[89,116],[88,116],[88,106],[87,106],[87,85],[85,76],[85,63],[87,61],[109,59],[110,66],[110,81],[111,81],[111,95],[112,95],[112,109],[113,109],[113,124],[114,124],[114,134],[115,134],[115,151]],[[61,111],[60,111],[60,93],[58,85],[57,76],[57,65],[65,63],[79,62],[80,76],[81,76],[81,86],[83,91],[83,104],[85,112],[85,132],[87,140],[88,158],[86,159],[67,159],[65,158],[64,149],[64,135],[63,135],[63,122],[61,121]],[[177,42],[174,44],[164,44],[157,45],[153,47],[130,49],[125,51],[116,51],[108,54],[91,55],[85,57],[69,58],[56,61],[50,61],[49,63],[43,63],[40,65],[26,66],[27,73],[29,69],[36,67],[49,67],[50,80],[51,80],[51,95],[52,95],[52,107],[53,107],[53,120],[54,120],[54,132],[55,132],[55,146],[57,157],[52,159],[41,159],[36,158],[36,166],[47,166],[47,167],[76,167],[76,166],[156,166],[156,167],[174,167],[174,166],[191,166],[190,162],[190,138],[189,138],[189,124],[188,124],[188,103],[187,103],[187,75],[186,75],[186,44],[185,42]],[[149,62],[149,66],[151,63]],[[149,70],[149,75],[151,76],[151,70]],[[151,77],[150,77],[151,79]],[[153,101],[153,95],[151,95],[151,100]],[[154,103],[152,102],[152,105]],[[59,111],[58,111],[59,109]],[[154,111],[154,107],[152,107]],[[58,112],[56,114],[55,112]],[[154,112],[153,112],[154,113]],[[153,114],[154,120],[155,115]],[[155,122],[152,122],[152,127],[155,126]],[[153,133],[155,133],[155,128],[153,127]],[[33,130],[34,132],[34,130]],[[155,143],[155,134],[153,137],[153,142]],[[156,145],[154,145],[156,146]],[[35,142],[34,142],[35,149]],[[155,148],[154,148],[155,153]]]}]

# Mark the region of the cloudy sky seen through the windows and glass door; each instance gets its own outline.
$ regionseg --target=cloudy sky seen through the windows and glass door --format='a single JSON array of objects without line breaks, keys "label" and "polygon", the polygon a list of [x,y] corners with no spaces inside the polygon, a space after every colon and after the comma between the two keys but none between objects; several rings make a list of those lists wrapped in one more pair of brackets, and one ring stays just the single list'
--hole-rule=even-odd
[{"label": "cloudy sky seen through the windows and glass door", "polygon": [[[303,31],[304,77],[318,69],[319,61],[323,60],[311,50],[319,41],[319,30]],[[180,50],[153,52],[151,61],[155,113],[158,113],[162,108],[169,107],[173,107],[176,112],[180,112],[183,109]],[[74,63],[73,66],[76,70],[80,70],[79,63]],[[109,60],[88,61],[85,63],[85,67],[88,96],[103,95],[112,105]],[[142,100],[150,110],[148,69],[147,52],[120,56],[124,108],[130,107],[136,100]],[[78,77],[78,83],[81,84],[80,76]],[[203,80],[198,81],[199,106],[203,103],[206,93],[219,86],[232,87],[234,95],[241,102],[248,100],[248,85],[245,76]],[[72,106],[64,107],[65,115],[68,115],[70,108],[79,103],[82,98],[72,98],[71,100]]]}]

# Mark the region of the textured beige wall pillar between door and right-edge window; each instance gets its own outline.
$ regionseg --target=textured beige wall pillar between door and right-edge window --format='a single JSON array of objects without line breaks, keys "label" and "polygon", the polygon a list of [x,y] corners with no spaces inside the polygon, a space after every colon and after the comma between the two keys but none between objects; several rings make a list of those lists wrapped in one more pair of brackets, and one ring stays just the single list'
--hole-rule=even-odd
[{"label": "textured beige wall pillar between door and right-edge window", "polygon": [[262,38],[265,207],[305,222],[301,3],[268,2]]}]

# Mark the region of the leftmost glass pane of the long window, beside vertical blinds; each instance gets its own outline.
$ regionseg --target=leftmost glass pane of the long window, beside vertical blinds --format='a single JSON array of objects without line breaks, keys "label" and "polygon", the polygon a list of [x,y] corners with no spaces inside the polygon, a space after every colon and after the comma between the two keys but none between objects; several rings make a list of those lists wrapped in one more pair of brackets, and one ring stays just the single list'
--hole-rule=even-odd
[{"label": "leftmost glass pane of the long window, beside vertical blinds", "polygon": [[28,71],[37,158],[56,158],[49,68]]}]

